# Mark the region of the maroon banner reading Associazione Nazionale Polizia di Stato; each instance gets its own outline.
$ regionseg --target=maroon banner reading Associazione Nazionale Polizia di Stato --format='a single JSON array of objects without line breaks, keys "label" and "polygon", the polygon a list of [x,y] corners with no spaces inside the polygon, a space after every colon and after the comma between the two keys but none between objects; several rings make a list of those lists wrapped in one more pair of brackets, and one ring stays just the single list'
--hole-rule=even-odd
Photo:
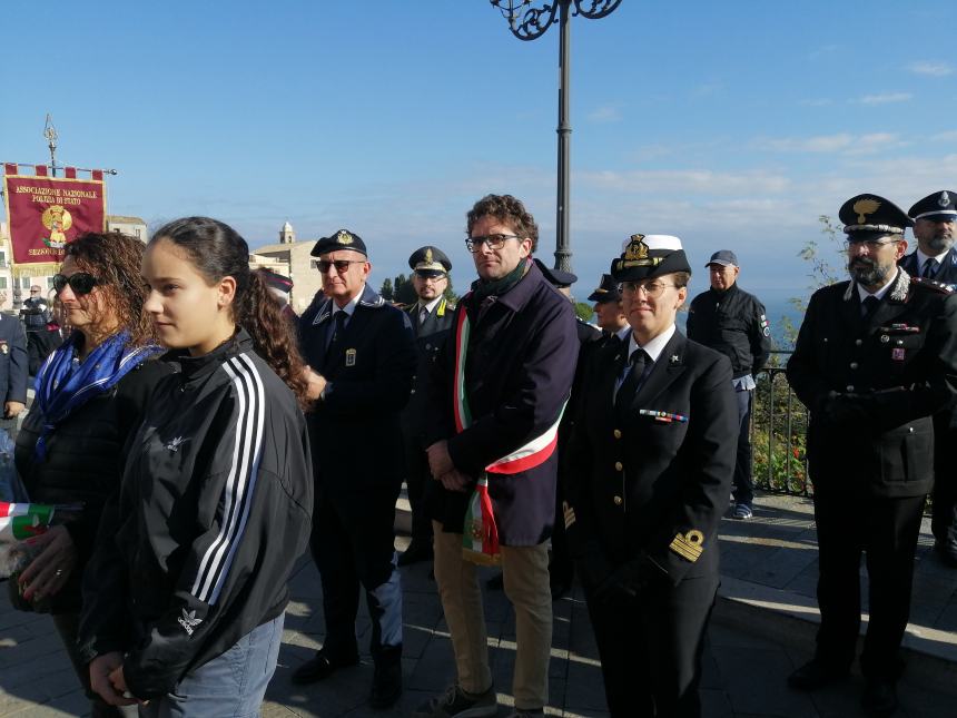
[{"label": "maroon banner reading Associazione Nazionale Polizia di Stato", "polygon": [[[63,248],[81,234],[106,228],[106,185],[101,173],[91,179],[18,175],[7,165],[3,201],[10,224],[13,276],[53,274]],[[46,170],[46,167],[42,168]],[[72,168],[71,168],[72,169]]]}]

